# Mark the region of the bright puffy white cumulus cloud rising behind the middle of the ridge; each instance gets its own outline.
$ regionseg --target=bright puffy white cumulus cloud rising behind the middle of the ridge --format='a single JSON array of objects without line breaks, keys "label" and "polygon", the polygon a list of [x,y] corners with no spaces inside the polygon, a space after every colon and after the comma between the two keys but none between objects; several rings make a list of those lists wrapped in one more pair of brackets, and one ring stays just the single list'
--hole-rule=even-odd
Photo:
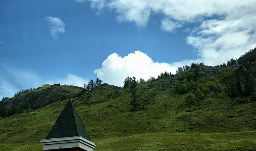
[{"label": "bright puffy white cumulus cloud rising behind the middle of the ridge", "polygon": [[94,73],[108,84],[123,86],[123,81],[127,76],[148,80],[150,77],[157,78],[164,71],[174,74],[176,68],[168,63],[154,62],[145,53],[135,51],[125,57],[121,57],[117,53],[109,55],[102,63],[101,68],[94,70]]}]

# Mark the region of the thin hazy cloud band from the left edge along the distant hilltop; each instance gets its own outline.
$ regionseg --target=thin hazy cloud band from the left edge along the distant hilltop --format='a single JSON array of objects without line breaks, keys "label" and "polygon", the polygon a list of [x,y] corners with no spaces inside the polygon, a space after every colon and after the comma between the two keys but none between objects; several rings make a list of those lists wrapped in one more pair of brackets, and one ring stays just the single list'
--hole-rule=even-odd
[{"label": "thin hazy cloud band from the left edge along the distant hilltop", "polygon": [[18,69],[0,64],[0,100],[3,97],[12,97],[17,91],[37,88],[43,84],[67,84],[83,87],[88,83],[88,79],[80,78],[73,74],[67,74],[64,78],[51,78],[51,80],[41,77],[32,70]]}]

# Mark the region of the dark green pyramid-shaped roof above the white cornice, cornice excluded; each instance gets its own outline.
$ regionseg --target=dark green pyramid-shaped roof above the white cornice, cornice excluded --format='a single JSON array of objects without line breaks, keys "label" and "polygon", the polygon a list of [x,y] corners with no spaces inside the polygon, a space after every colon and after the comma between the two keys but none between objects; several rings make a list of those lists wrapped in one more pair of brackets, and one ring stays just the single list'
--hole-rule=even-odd
[{"label": "dark green pyramid-shaped roof above the white cornice, cornice excluded", "polygon": [[69,99],[61,115],[45,139],[81,136],[91,141],[72,100]]}]

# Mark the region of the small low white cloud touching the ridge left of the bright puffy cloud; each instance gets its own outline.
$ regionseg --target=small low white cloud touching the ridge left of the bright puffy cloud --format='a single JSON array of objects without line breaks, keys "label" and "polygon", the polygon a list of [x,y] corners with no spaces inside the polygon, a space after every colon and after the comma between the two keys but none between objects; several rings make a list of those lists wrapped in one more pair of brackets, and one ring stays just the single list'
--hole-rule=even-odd
[{"label": "small low white cloud touching the ridge left of the bright puffy cloud", "polygon": [[67,84],[71,86],[79,86],[83,87],[85,83],[88,83],[88,79],[81,78],[79,76],[73,75],[73,74],[67,74],[66,78],[56,79],[56,80],[48,80],[45,82],[45,84],[54,84],[54,83],[60,83],[60,84]]}]

